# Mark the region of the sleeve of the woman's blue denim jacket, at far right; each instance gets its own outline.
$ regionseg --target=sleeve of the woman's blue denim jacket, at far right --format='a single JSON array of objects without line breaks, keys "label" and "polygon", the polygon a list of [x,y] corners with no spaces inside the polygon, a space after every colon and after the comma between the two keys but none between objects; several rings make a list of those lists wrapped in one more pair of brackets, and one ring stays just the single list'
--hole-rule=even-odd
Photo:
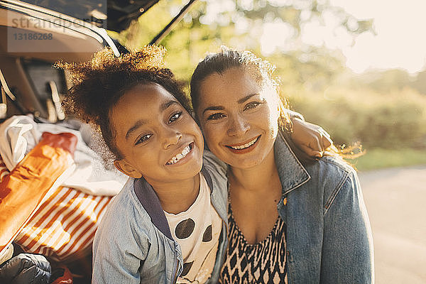
[{"label": "sleeve of the woman's blue denim jacket, at far right", "polygon": [[374,283],[371,226],[353,169],[324,208],[321,283]]}]

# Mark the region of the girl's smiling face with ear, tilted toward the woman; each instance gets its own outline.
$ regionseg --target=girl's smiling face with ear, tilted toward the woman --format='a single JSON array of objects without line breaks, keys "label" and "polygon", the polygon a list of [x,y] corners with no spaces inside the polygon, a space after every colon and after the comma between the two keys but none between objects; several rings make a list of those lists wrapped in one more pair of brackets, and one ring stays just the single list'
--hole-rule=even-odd
[{"label": "girl's smiling face with ear, tilted toward the woman", "polygon": [[114,165],[151,184],[194,178],[202,168],[202,133],[192,116],[159,84],[138,84],[110,109]]}]

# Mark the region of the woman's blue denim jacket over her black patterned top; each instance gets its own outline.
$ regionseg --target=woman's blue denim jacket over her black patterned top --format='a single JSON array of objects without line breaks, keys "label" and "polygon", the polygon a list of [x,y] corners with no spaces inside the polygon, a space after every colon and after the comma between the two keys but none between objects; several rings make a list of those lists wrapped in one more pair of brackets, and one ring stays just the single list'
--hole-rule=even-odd
[{"label": "woman's blue denim jacket over her black patterned top", "polygon": [[304,167],[281,133],[274,151],[288,283],[373,283],[371,227],[355,170],[330,156]]}]

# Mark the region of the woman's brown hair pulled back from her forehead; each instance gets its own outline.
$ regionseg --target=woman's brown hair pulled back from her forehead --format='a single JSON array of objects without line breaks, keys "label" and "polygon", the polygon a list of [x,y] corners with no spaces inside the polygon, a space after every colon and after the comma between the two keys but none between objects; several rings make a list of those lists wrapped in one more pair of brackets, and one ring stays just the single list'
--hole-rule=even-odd
[{"label": "woman's brown hair pulled back from her forehead", "polygon": [[219,53],[209,54],[204,60],[198,63],[190,82],[192,107],[194,109],[198,107],[202,82],[209,75],[223,74],[226,70],[231,68],[242,68],[243,70],[249,71],[254,80],[256,80],[261,87],[270,88],[273,91],[273,94],[276,95],[274,98],[275,104],[277,104],[280,110],[278,127],[280,131],[282,131],[285,140],[302,163],[308,164],[315,161],[315,158],[311,158],[305,152],[297,148],[290,138],[290,133],[293,131],[293,124],[290,119],[290,114],[288,114],[288,111],[285,111],[285,109],[288,108],[288,102],[278,94],[278,78],[273,75],[275,66],[267,60],[258,58],[247,50],[231,50],[230,48],[222,46]]}]

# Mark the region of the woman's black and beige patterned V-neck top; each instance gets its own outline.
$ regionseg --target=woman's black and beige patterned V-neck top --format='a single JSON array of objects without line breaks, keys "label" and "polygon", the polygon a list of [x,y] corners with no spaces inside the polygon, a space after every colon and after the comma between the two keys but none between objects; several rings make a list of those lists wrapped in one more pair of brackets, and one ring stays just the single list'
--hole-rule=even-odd
[{"label": "woman's black and beige patterned V-neck top", "polygon": [[285,223],[279,216],[266,239],[248,244],[228,209],[229,245],[220,283],[288,283]]}]

